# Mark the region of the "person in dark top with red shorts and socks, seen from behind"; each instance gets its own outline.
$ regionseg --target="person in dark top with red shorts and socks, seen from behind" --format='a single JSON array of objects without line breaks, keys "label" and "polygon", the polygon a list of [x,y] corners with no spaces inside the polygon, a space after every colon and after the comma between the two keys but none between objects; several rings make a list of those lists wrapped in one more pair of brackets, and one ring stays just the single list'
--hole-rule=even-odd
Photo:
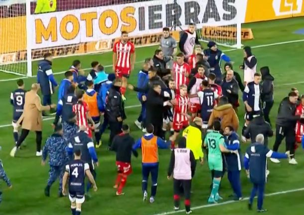
[{"label": "person in dark top with red shorts and socks, seen from behind", "polygon": [[127,177],[132,173],[131,154],[138,157],[136,150],[132,149],[135,140],[130,136],[129,125],[122,126],[123,132],[114,137],[111,151],[116,152],[116,166],[118,174],[114,188],[117,189],[116,196],[124,195],[123,188],[127,183]]}]

